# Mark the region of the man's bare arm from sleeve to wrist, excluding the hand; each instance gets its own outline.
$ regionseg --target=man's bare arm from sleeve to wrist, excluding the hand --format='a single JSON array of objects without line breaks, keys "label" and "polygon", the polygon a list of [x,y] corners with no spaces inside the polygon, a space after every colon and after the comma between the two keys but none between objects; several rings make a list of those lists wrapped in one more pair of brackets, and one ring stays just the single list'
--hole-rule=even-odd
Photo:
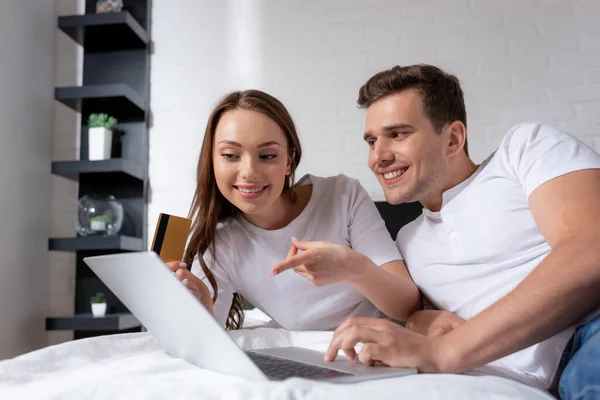
[{"label": "man's bare arm from sleeve to wrist, excluding the hand", "polygon": [[529,198],[550,254],[512,292],[435,344],[464,372],[558,334],[600,307],[600,170],[572,172]]}]

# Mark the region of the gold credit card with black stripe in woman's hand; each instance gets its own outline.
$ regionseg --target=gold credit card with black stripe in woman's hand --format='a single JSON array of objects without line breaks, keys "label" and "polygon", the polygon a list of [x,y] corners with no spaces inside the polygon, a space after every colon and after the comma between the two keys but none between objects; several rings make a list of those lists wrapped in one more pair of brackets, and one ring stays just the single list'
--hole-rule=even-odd
[{"label": "gold credit card with black stripe in woman's hand", "polygon": [[161,213],[152,240],[152,251],[164,262],[182,261],[192,220]]}]

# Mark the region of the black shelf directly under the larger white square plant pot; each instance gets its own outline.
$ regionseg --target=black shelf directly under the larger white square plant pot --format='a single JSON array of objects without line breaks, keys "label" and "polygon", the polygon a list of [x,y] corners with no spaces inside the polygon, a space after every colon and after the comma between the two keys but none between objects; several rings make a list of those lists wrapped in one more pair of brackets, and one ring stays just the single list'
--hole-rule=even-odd
[{"label": "black shelf directly under the larger white square plant pot", "polygon": [[140,181],[144,180],[144,169],[126,159],[112,158],[98,161],[54,161],[52,173],[67,179],[78,180],[81,174],[120,174]]}]

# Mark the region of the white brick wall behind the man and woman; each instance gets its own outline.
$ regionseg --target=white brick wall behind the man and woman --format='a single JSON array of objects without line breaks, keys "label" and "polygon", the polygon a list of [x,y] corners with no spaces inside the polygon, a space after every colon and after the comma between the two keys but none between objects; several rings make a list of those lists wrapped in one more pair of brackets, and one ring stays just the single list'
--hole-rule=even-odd
[{"label": "white brick wall behind the man and woman", "polygon": [[345,173],[372,197],[358,88],[396,64],[433,63],[466,91],[476,162],[522,120],[600,150],[600,1],[154,1],[150,235],[187,214],[211,107],[226,92],[279,97],[301,135],[299,172]]}]

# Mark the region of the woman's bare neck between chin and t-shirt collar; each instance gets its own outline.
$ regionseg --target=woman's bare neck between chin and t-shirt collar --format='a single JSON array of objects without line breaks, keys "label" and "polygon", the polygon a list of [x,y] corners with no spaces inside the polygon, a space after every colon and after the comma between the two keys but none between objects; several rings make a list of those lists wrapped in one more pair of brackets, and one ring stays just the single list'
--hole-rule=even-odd
[{"label": "woman's bare neck between chin and t-shirt collar", "polygon": [[252,225],[265,230],[277,230],[285,228],[300,215],[308,204],[312,195],[312,185],[303,185],[295,189],[296,202],[292,202],[291,196],[282,193],[275,203],[259,214],[242,214]]}]

